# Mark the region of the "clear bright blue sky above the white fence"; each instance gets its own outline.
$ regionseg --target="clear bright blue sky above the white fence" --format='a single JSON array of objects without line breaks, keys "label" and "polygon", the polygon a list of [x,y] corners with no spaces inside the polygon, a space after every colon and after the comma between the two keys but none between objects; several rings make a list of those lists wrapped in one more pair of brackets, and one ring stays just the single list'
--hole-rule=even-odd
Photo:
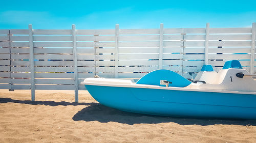
[{"label": "clear bright blue sky above the white fence", "polygon": [[254,1],[1,1],[0,29],[248,27]]}]

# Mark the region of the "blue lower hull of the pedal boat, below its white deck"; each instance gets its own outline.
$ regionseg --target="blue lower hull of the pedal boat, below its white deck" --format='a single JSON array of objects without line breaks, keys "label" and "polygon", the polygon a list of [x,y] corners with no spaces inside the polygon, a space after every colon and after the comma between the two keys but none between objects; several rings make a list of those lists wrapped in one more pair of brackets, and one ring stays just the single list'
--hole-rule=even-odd
[{"label": "blue lower hull of the pedal boat, below its white deck", "polygon": [[250,94],[85,86],[101,104],[123,111],[172,117],[256,119],[256,96]]}]

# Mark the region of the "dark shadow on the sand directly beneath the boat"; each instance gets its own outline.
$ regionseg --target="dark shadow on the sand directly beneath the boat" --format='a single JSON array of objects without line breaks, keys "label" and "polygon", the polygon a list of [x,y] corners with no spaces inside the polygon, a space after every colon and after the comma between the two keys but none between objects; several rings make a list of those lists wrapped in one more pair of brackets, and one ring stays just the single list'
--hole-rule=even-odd
[{"label": "dark shadow on the sand directly beneath the boat", "polygon": [[99,103],[93,103],[90,106],[78,111],[74,121],[98,121],[101,123],[118,122],[122,124],[157,124],[174,122],[180,125],[242,125],[256,126],[256,120],[227,120],[227,119],[192,119],[192,118],[174,118],[150,116],[139,113],[124,112],[114,108],[106,107]]}]

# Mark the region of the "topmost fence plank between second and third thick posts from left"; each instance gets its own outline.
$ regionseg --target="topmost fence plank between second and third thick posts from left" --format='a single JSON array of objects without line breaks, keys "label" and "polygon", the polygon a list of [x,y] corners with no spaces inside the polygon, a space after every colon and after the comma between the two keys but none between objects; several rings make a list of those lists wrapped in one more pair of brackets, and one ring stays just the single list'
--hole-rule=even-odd
[{"label": "topmost fence plank between second and third thick posts from left", "polygon": [[76,35],[114,35],[115,30],[76,30]]}]

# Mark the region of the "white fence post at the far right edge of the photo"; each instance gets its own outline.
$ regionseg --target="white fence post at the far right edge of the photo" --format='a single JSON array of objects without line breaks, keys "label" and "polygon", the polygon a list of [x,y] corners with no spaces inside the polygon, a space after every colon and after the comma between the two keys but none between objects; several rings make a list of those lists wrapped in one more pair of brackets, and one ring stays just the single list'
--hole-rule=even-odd
[{"label": "white fence post at the far right edge of the photo", "polygon": [[251,26],[251,58],[250,58],[250,74],[254,74],[254,54],[255,54],[255,40],[256,40],[256,22]]}]

